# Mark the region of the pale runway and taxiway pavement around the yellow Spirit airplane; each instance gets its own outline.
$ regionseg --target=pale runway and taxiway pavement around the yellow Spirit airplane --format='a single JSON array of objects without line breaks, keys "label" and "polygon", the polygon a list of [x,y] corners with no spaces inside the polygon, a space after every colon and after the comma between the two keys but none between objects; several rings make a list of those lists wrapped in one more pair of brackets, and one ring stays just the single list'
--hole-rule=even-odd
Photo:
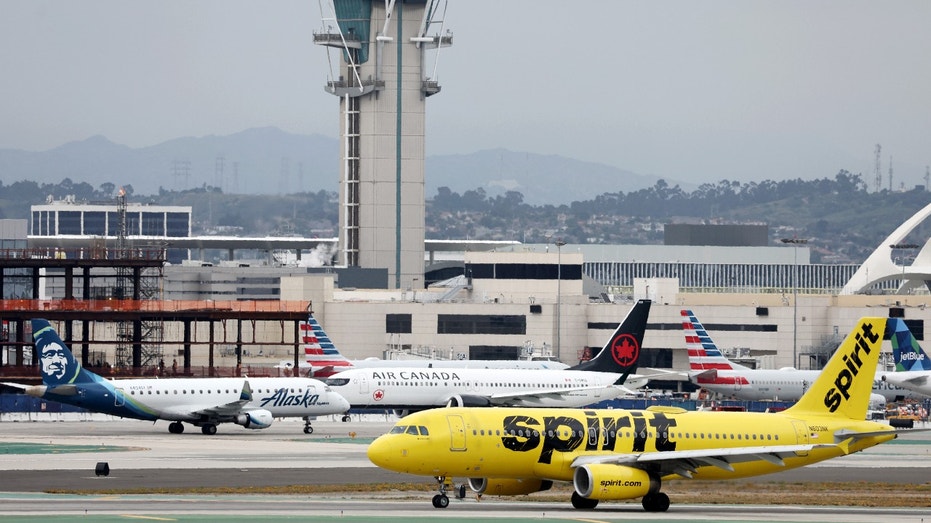
[{"label": "pale runway and taxiway pavement around the yellow Spirit airplane", "polygon": [[[314,422],[314,433],[302,432],[302,422],[279,422],[262,431],[222,425],[218,434],[199,431],[169,434],[167,423],[114,421],[10,421],[0,418],[0,515],[4,521],[52,521],[55,516],[126,514],[167,516],[199,521],[206,517],[230,521],[257,515],[332,518],[352,521],[432,519],[432,478],[381,470],[365,455],[367,443],[387,431],[392,419],[369,418],[343,423],[335,418]],[[109,476],[95,467],[106,462]],[[927,484],[931,478],[931,433],[915,433],[859,454],[752,478],[760,482],[869,481]],[[71,495],[61,491],[127,489],[194,489],[287,485],[344,485],[410,482],[422,492],[356,492],[324,495]],[[865,495],[868,493],[864,493]],[[390,507],[386,509],[386,507]],[[778,514],[776,514],[778,512]],[[32,516],[27,516],[31,514]],[[487,520],[502,517],[578,521],[931,521],[929,509],[846,509],[780,505],[673,504],[664,514],[644,513],[639,503],[602,503],[579,512],[568,501],[514,502],[474,496],[452,500],[445,516]],[[9,518],[16,519],[9,519]],[[35,517],[36,519],[30,519]],[[785,519],[782,519],[785,518]],[[64,520],[64,519],[62,519]]]}]

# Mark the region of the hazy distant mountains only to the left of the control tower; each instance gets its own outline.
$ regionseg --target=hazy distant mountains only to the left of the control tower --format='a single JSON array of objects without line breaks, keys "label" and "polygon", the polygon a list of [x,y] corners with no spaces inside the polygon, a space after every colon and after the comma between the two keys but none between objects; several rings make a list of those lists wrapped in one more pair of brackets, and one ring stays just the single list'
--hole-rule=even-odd
[{"label": "hazy distant mountains only to the left of the control tower", "polygon": [[136,194],[204,185],[227,193],[286,194],[339,185],[338,142],[274,127],[229,136],[178,138],[133,149],[103,136],[49,151],[0,150],[0,179],[59,183],[64,178],[98,187],[132,185]]}]

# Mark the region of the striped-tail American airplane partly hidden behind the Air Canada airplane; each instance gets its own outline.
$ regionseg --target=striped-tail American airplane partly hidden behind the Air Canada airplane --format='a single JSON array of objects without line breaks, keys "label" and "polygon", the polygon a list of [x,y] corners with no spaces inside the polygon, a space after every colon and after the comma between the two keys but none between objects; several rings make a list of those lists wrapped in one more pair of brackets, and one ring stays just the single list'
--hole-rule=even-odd
[{"label": "striped-tail American airplane partly hidden behind the Air Canada airplane", "polygon": [[[309,374],[316,378],[325,378],[337,372],[349,369],[367,369],[375,367],[417,367],[417,368],[474,368],[474,369],[565,369],[561,361],[549,360],[382,360],[377,358],[365,360],[347,359],[330,337],[324,332],[320,322],[313,314],[307,321],[300,322],[301,338],[304,344],[304,360],[298,361],[301,375]],[[294,362],[282,361],[276,368],[293,369]]]}]

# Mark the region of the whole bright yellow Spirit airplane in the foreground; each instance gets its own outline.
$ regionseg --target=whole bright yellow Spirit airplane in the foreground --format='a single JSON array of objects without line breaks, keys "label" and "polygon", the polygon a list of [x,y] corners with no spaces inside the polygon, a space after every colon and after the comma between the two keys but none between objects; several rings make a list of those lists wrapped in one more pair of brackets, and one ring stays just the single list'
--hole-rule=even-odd
[{"label": "whole bright yellow Spirit airplane in the foreground", "polygon": [[778,413],[455,407],[402,418],[368,448],[379,467],[450,478],[475,492],[522,495],[572,482],[572,505],[642,498],[664,512],[663,483],[736,479],[844,456],[896,437],[866,421],[885,318],[862,318],[801,400]]}]

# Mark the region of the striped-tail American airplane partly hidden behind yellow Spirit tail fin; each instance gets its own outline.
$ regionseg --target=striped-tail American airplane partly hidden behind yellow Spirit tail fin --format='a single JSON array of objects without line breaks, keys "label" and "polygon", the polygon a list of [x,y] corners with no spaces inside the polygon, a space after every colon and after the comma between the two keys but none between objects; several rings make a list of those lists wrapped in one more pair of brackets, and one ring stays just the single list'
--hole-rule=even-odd
[{"label": "striped-tail American airplane partly hidden behind yellow Spirit tail fin", "polygon": [[[798,401],[811,387],[821,371],[783,369],[751,369],[724,357],[701,322],[690,310],[682,311],[685,347],[689,353],[689,379],[711,392],[746,401]],[[881,375],[873,380],[870,403],[882,408],[887,401],[916,397],[909,390],[883,382]]]}]

